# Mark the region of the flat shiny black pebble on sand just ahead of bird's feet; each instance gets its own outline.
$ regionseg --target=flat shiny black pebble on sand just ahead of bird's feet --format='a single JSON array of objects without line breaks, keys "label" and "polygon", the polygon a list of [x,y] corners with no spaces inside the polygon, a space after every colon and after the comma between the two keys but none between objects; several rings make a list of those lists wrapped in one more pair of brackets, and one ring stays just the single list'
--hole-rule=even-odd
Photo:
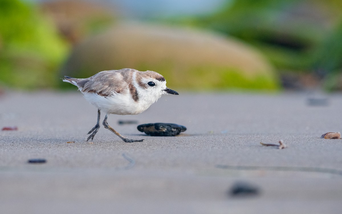
[{"label": "flat shiny black pebble on sand just ahead of bird's feet", "polygon": [[176,136],[186,130],[185,126],[174,123],[148,123],[139,125],[137,128],[150,136]]}]

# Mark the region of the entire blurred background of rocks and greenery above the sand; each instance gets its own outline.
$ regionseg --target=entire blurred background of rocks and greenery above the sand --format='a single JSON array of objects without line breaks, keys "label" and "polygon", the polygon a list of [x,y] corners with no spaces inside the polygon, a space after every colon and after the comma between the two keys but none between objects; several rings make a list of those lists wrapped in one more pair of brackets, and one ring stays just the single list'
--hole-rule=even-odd
[{"label": "entire blurred background of rocks and greenery above the sand", "polygon": [[0,90],[156,71],[175,90],[342,90],[341,0],[0,0]]}]

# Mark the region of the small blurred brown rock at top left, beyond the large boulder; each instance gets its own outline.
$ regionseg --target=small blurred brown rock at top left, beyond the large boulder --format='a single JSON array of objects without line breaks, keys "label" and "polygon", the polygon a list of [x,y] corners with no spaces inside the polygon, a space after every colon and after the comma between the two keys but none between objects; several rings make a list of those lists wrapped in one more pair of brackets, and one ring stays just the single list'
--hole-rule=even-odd
[{"label": "small blurred brown rock at top left, beyond the large boulder", "polygon": [[113,24],[119,14],[112,5],[82,0],[45,1],[41,9],[71,43]]}]

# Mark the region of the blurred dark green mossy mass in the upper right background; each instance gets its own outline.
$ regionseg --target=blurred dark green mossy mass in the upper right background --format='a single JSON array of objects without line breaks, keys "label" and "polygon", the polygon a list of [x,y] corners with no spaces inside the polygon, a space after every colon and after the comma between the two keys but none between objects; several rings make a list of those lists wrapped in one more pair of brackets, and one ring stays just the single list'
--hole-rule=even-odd
[{"label": "blurred dark green mossy mass in the upper right background", "polygon": [[[261,50],[278,72],[333,72],[341,65],[341,0],[234,0],[218,11],[168,20],[235,36]],[[339,21],[340,20],[340,21]]]}]

